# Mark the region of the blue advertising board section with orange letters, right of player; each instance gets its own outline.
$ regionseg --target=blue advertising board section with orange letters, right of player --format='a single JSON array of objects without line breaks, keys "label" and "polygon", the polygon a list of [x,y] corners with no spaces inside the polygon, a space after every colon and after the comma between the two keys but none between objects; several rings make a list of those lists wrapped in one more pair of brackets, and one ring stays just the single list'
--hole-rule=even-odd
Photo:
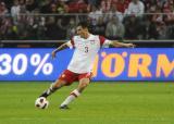
[{"label": "blue advertising board section with orange letters, right of player", "polygon": [[174,80],[174,49],[103,49],[95,65],[96,80]]}]

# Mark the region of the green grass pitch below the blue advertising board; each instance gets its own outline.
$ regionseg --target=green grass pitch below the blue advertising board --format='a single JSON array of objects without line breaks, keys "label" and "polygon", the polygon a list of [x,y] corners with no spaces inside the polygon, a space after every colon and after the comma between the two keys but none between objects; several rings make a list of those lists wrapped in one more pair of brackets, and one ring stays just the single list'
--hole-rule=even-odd
[{"label": "green grass pitch below the blue advertising board", "polygon": [[48,83],[0,83],[0,124],[174,124],[174,84],[95,83],[70,104],[59,104],[77,84],[48,98],[47,110],[34,107]]}]

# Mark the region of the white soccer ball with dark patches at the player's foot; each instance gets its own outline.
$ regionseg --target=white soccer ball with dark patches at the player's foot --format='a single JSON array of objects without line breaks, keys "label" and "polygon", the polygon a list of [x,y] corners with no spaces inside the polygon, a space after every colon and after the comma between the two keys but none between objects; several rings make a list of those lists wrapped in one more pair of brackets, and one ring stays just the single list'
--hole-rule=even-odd
[{"label": "white soccer ball with dark patches at the player's foot", "polygon": [[49,106],[49,101],[45,97],[39,97],[35,101],[35,107],[39,109],[47,109]]}]

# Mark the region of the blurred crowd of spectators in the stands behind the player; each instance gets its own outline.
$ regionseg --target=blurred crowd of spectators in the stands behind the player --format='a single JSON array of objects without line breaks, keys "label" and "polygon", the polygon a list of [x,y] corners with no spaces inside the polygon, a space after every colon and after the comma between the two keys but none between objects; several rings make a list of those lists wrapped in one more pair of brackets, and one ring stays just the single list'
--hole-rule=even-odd
[{"label": "blurred crowd of spectators in the stands behind the player", "polygon": [[80,21],[110,39],[174,39],[174,0],[0,0],[0,39],[70,39]]}]

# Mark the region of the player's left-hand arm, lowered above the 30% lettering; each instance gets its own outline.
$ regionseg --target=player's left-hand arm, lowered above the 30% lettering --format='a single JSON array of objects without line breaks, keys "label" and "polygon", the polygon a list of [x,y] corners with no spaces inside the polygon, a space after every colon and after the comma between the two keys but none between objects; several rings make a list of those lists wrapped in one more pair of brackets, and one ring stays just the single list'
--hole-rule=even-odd
[{"label": "player's left-hand arm, lowered above the 30% lettering", "polygon": [[54,49],[51,53],[52,58],[55,58],[57,52],[64,50],[66,48],[71,48],[71,41],[67,41],[65,44],[62,44],[61,46],[59,46],[57,49]]}]

